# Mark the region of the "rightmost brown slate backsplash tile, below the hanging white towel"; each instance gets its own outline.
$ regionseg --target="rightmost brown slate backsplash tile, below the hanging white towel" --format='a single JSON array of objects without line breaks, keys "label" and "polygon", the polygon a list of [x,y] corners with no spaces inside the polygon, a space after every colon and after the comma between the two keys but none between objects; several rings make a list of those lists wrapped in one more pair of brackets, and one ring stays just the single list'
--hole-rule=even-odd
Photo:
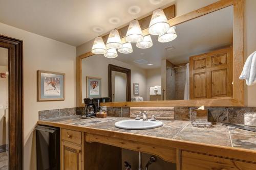
[{"label": "rightmost brown slate backsplash tile, below the hanging white towel", "polygon": [[256,107],[228,108],[228,123],[244,124],[244,114],[249,112],[256,113]]}]

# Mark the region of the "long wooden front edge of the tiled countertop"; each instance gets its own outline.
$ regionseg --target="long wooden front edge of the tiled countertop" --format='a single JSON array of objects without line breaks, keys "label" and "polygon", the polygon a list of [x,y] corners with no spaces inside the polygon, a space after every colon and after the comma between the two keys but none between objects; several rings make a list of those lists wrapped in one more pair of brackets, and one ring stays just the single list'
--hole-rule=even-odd
[{"label": "long wooden front edge of the tiled countertop", "polygon": [[244,161],[256,163],[256,151],[254,150],[225,147],[221,145],[177,140],[177,139],[170,139],[170,138],[162,138],[162,137],[148,136],[148,135],[141,135],[141,134],[133,134],[133,133],[127,133],[127,132],[117,132],[117,131],[111,131],[111,130],[96,129],[91,127],[81,127],[81,126],[75,126],[75,125],[67,125],[63,123],[47,122],[42,120],[39,120],[37,124],[54,126],[58,128],[65,128],[65,129],[70,129],[74,131],[81,131],[81,132],[90,133],[90,134],[97,134],[97,135],[106,136],[106,137],[132,140],[135,142],[156,144],[166,148],[177,148],[177,149],[186,150],[190,152],[204,153],[208,155],[216,155],[220,157],[232,158],[232,159],[244,160]]}]

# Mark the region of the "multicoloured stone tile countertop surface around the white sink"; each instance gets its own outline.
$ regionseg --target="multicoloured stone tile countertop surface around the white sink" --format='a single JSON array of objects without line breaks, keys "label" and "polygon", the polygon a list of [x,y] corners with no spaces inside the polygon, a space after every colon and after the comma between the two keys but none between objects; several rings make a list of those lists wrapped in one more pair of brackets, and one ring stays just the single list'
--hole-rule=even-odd
[{"label": "multicoloured stone tile countertop surface around the white sink", "polygon": [[126,132],[130,134],[140,134],[152,137],[162,137],[167,139],[214,144],[223,147],[256,150],[256,132],[227,127],[222,124],[216,124],[212,128],[197,128],[193,127],[191,123],[187,121],[161,120],[164,125],[160,128],[155,129],[124,130],[116,128],[114,125],[115,122],[124,119],[129,118],[106,117],[82,119],[80,115],[74,115],[58,119],[42,120],[39,122],[39,124],[44,124],[44,122],[51,122],[63,125],[90,127],[115,132]]}]

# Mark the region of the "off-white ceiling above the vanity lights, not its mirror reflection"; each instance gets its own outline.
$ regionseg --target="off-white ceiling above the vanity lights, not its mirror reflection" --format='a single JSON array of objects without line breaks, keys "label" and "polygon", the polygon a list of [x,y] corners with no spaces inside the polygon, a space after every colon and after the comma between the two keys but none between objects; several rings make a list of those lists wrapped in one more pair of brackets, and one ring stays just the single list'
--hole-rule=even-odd
[{"label": "off-white ceiling above the vanity lights, not its mirror reflection", "polygon": [[[0,22],[78,46],[173,1],[0,0]],[[139,13],[130,14],[132,6],[138,6]],[[110,23],[113,17],[120,22]],[[94,32],[95,27],[102,32]]]}]

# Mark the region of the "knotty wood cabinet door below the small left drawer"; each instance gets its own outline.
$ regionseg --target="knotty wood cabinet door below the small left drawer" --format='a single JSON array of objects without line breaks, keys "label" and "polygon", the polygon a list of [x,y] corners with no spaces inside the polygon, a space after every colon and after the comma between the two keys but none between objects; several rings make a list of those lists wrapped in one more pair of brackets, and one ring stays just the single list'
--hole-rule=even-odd
[{"label": "knotty wood cabinet door below the small left drawer", "polygon": [[62,141],[61,144],[62,170],[81,170],[82,152],[81,147]]}]

